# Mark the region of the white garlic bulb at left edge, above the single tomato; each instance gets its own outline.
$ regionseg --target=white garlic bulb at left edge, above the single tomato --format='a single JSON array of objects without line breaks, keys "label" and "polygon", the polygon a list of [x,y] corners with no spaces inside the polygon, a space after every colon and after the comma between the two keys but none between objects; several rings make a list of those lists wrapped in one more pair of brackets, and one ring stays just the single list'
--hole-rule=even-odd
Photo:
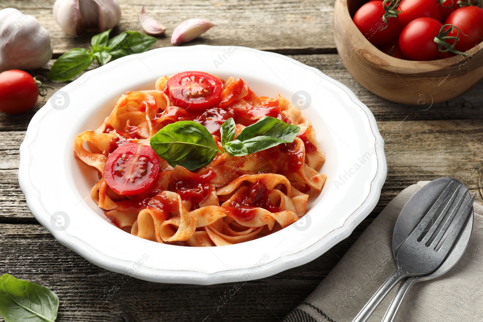
[{"label": "white garlic bulb at left edge, above the single tomato", "polygon": [[52,58],[49,32],[14,8],[0,10],[0,71],[37,69]]}]

